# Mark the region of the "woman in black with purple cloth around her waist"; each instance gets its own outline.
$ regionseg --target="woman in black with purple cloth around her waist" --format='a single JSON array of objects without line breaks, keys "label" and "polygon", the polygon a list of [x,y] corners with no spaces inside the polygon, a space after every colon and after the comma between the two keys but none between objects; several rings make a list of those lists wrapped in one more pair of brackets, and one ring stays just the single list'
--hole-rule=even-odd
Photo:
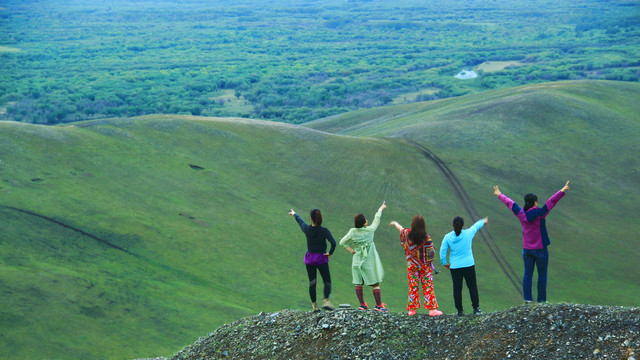
[{"label": "woman in black with purple cloth around her waist", "polygon": [[[331,235],[329,229],[322,226],[322,213],[318,209],[313,209],[309,213],[311,226],[296,214],[293,209],[289,212],[292,215],[300,229],[307,237],[307,253],[304,256],[304,263],[307,266],[307,275],[309,276],[309,297],[311,298],[311,307],[313,311],[320,311],[316,302],[316,282],[317,270],[320,271],[322,281],[324,282],[324,301],[322,308],[325,310],[333,310],[333,304],[329,301],[331,297],[331,272],[329,271],[329,257],[336,249],[336,241]],[[331,250],[327,252],[327,241],[331,243]]]}]

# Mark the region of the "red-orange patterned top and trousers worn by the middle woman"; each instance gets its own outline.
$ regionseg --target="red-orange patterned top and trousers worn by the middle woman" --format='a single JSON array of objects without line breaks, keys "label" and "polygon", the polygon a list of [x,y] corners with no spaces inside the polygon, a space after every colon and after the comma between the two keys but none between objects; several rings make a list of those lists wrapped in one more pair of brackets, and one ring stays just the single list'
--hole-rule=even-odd
[{"label": "red-orange patterned top and trousers worn by the middle woman", "polygon": [[433,274],[431,272],[431,262],[435,257],[433,242],[431,236],[427,234],[422,244],[415,245],[409,239],[410,232],[411,229],[408,228],[400,231],[400,243],[407,258],[407,279],[409,280],[407,310],[420,308],[420,284],[422,284],[425,309],[435,310],[438,308],[438,301],[433,291]]}]

